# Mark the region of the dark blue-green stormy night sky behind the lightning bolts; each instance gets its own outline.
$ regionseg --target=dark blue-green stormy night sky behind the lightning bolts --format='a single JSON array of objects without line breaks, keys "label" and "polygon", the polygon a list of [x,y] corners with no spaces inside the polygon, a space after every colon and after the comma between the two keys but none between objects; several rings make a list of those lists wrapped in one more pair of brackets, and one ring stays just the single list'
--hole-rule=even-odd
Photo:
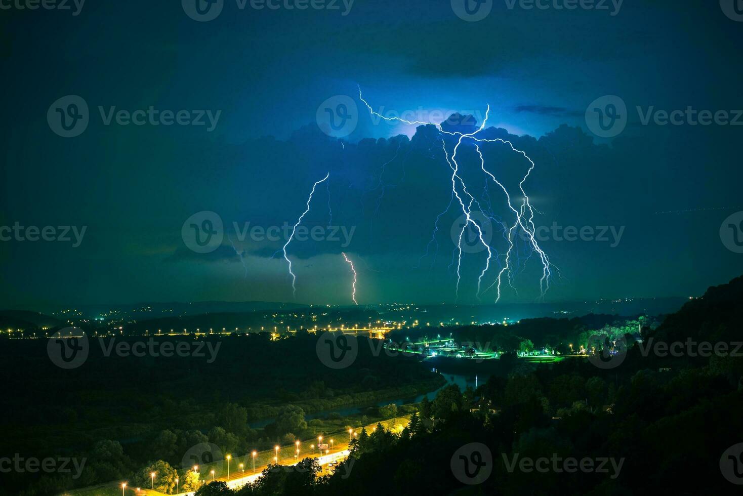
[{"label": "dark blue-green stormy night sky behind the lightning bolts", "polygon": [[[743,272],[743,255],[720,235],[721,223],[743,210],[743,117],[741,125],[642,123],[651,106],[729,111],[731,120],[743,109],[743,22],[717,1],[626,0],[611,15],[611,2],[609,10],[525,10],[496,0],[478,22],[460,19],[449,0],[356,0],[345,16],[337,4],[240,10],[225,0],[210,22],[190,19],[180,1],[90,0],[77,16],[0,10],[0,226],[87,226],[80,247],[0,242],[1,306],[351,304],[341,252],[355,262],[361,304],[454,302],[457,206],[441,215],[429,243],[451,198],[440,134],[372,119],[358,86],[382,113],[420,108],[481,120],[489,104],[482,137],[512,140],[536,163],[525,182],[536,226],[623,229],[614,247],[611,234],[541,241],[556,267],[547,301],[698,296]],[[48,123],[65,95],[89,107],[77,137],[60,137]],[[316,119],[338,95],[357,105],[357,125],[343,140]],[[627,107],[626,128],[609,138],[585,121],[605,95]],[[99,105],[104,113],[151,105],[220,113],[211,131],[207,117],[206,125],[106,125]],[[502,143],[482,150],[487,169],[517,190],[525,158]],[[473,146],[458,160],[473,194],[485,201],[490,192],[492,211],[507,220]],[[275,255],[283,242],[240,241],[233,223],[295,223],[328,172],[303,225],[343,226],[353,236],[348,246],[341,233],[340,241],[293,241],[295,300],[287,264]],[[181,235],[202,211],[224,222],[224,241],[206,254]],[[501,301],[539,297],[542,268],[523,249]],[[484,261],[481,251],[463,255],[458,301],[478,301]],[[480,295],[483,303],[495,298],[493,289]]]}]

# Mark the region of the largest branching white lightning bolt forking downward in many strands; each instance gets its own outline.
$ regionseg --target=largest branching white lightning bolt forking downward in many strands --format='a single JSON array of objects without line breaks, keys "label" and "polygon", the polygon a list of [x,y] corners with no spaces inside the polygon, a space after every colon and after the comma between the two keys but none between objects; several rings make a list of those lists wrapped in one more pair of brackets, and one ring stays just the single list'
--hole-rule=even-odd
[{"label": "largest branching white lightning bolt forking downward in many strands", "polygon": [[[452,149],[451,154],[447,150],[446,140],[444,139],[444,137],[442,137],[441,139],[442,148],[444,150],[444,157],[446,158],[446,161],[449,164],[450,169],[452,169],[452,179],[451,179],[452,180],[452,201],[453,201],[453,198],[457,199],[459,206],[461,207],[462,213],[464,214],[464,218],[465,218],[464,226],[462,226],[461,232],[459,233],[457,247],[455,248],[455,251],[458,252],[458,255],[456,256],[456,261],[457,261],[456,296],[457,298],[459,295],[459,285],[461,283],[461,259],[462,259],[461,242],[464,236],[464,231],[467,229],[467,226],[470,226],[470,224],[474,226],[474,228],[476,229],[477,235],[478,235],[478,240],[487,249],[487,261],[485,262],[485,267],[481,271],[478,277],[478,282],[477,282],[477,293],[476,294],[477,294],[478,299],[481,293],[483,293],[481,291],[481,285],[482,285],[483,278],[487,274],[487,271],[490,269],[490,261],[493,260],[493,249],[491,249],[490,245],[485,241],[481,226],[472,218],[473,204],[478,207],[480,212],[483,212],[483,209],[481,208],[478,201],[474,198],[474,196],[471,195],[470,192],[467,191],[467,185],[464,183],[464,180],[459,175],[460,168],[459,168],[459,163],[457,162],[457,152],[461,144],[465,141],[467,142],[471,141],[474,143],[474,146],[476,147],[476,151],[480,157],[480,162],[481,162],[480,166],[481,166],[482,171],[485,174],[487,174],[487,177],[490,177],[490,179],[493,180],[493,182],[496,183],[498,186],[500,186],[500,188],[503,190],[506,196],[506,199],[507,199],[508,208],[510,209],[511,212],[513,212],[513,215],[515,216],[513,225],[510,225],[510,227],[506,227],[504,223],[498,221],[502,226],[504,226],[504,237],[507,240],[508,249],[505,254],[505,264],[501,266],[501,270],[499,270],[496,280],[493,281],[493,284],[491,284],[490,287],[487,288],[487,290],[490,290],[490,288],[493,286],[497,287],[497,296],[496,296],[496,303],[497,303],[498,301],[500,301],[500,298],[501,298],[501,284],[502,284],[502,278],[504,275],[508,276],[509,284],[511,287],[513,287],[513,284],[511,283],[511,276],[512,276],[511,258],[512,258],[513,249],[515,247],[515,244],[513,242],[513,236],[515,235],[514,232],[520,228],[526,233],[529,246],[531,247],[533,251],[536,251],[539,254],[539,259],[542,262],[542,278],[539,280],[539,290],[540,290],[540,297],[544,298],[545,293],[549,290],[549,281],[551,277],[551,270],[550,270],[551,263],[549,261],[547,254],[544,252],[544,250],[542,250],[541,247],[539,247],[539,244],[536,242],[536,238],[534,237],[534,233],[536,232],[536,226],[533,223],[534,209],[533,209],[533,206],[531,206],[531,201],[529,200],[529,197],[526,194],[525,189],[524,189],[524,183],[526,182],[526,180],[528,180],[528,177],[530,176],[531,172],[535,168],[535,164],[533,160],[531,160],[531,158],[528,157],[525,151],[516,149],[513,146],[513,143],[511,143],[510,141],[502,140],[499,138],[488,140],[488,139],[481,139],[477,137],[477,134],[483,131],[485,126],[487,125],[487,120],[488,120],[488,117],[490,116],[490,105],[487,105],[487,111],[485,113],[485,118],[482,124],[480,125],[480,127],[476,131],[473,131],[472,133],[464,134],[458,131],[446,131],[444,130],[444,128],[441,127],[441,123],[426,123],[426,122],[421,122],[421,121],[404,120],[398,117],[385,117],[382,114],[375,112],[374,108],[372,108],[371,105],[369,105],[369,102],[367,102],[366,99],[363,98],[363,93],[360,87],[359,87],[359,99],[364,103],[364,105],[366,105],[366,108],[369,109],[369,113],[371,115],[380,117],[380,119],[386,120],[388,122],[405,123],[408,125],[434,125],[435,128],[437,128],[437,130],[441,134],[446,134],[448,136],[458,138],[456,145]],[[508,190],[506,189],[506,187],[496,178],[494,174],[492,174],[487,169],[485,169],[485,160],[484,160],[482,151],[480,149],[479,143],[496,143],[496,142],[507,144],[508,146],[510,146],[510,149],[512,151],[518,154],[522,154],[523,157],[525,157],[525,159],[527,159],[529,162],[530,166],[528,168],[528,171],[526,172],[522,180],[519,182],[519,191],[522,194],[523,200],[522,200],[521,205],[518,206],[518,208],[514,207],[513,203],[511,203],[510,194]],[[486,187],[487,187],[487,177],[486,177]],[[458,186],[461,189],[462,195],[460,195],[458,192]],[[450,203],[450,206],[451,206],[451,203]],[[435,232],[433,234],[432,241],[435,241],[435,233],[438,232],[438,221],[441,218],[441,215],[443,215],[443,213],[447,211],[448,211],[448,208],[447,210],[442,212],[442,214],[440,214],[438,218],[436,219]],[[492,216],[490,215],[486,215],[486,216],[487,218],[490,218],[491,221],[496,221],[496,219],[494,219]],[[428,253],[428,248],[432,241],[429,241],[429,245],[426,246],[426,255]],[[438,243],[437,243],[437,247],[438,247]],[[516,251],[518,255],[518,250]],[[496,258],[498,259],[499,265],[501,265],[499,256]],[[452,261],[452,264],[453,263],[454,262]],[[420,264],[420,261],[419,261],[419,264]],[[485,291],[487,292],[487,290]]]}]

